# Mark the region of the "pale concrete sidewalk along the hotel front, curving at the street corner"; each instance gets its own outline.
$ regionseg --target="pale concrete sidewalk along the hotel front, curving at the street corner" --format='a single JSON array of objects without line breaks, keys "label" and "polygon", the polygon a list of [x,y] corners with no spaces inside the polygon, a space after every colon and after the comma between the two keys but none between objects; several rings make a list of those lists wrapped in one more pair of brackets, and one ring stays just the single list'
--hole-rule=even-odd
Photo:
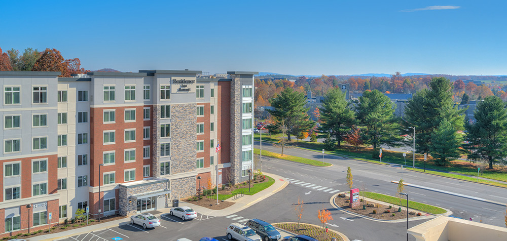
[{"label": "pale concrete sidewalk along the hotel front, curving at the street corner", "polygon": [[[225,208],[222,210],[211,210],[208,208],[204,208],[204,207],[201,207],[201,206],[198,206],[195,204],[186,203],[186,202],[180,202],[179,206],[188,206],[188,207],[194,209],[197,213],[200,213],[203,215],[208,215],[208,216],[223,217],[223,216],[227,216],[227,215],[239,212],[243,209],[250,207],[253,204],[259,203],[263,199],[268,198],[269,196],[271,196],[271,195],[275,194],[276,192],[280,191],[281,189],[283,189],[288,184],[288,181],[283,177],[280,177],[275,174],[269,174],[269,173],[264,173],[264,174],[275,179],[275,183],[273,183],[273,185],[271,185],[270,187],[268,187],[256,194],[244,195],[243,197],[238,198],[236,200],[231,200],[232,198],[227,199],[227,201],[229,201],[229,202],[236,203],[228,208]],[[163,214],[169,213],[171,208],[172,207],[165,208],[165,209],[158,209],[157,211],[162,212],[160,215],[163,215]],[[155,216],[160,217],[160,215],[155,215]],[[27,238],[26,240],[28,240],[28,241],[58,240],[58,239],[63,239],[63,238],[67,238],[70,236],[75,236],[75,235],[79,235],[79,234],[83,234],[83,233],[94,232],[94,231],[103,230],[103,229],[112,228],[112,227],[118,227],[120,225],[124,225],[124,224],[129,223],[129,221],[130,221],[130,217],[125,217],[124,219],[118,219],[118,220],[114,220],[114,221],[103,223],[103,224],[95,224],[95,225],[85,226],[82,228],[76,228],[76,229],[58,232],[58,233],[51,233],[51,234],[44,234],[44,235],[39,235],[39,236],[35,236],[35,237],[30,237],[30,238]]]}]

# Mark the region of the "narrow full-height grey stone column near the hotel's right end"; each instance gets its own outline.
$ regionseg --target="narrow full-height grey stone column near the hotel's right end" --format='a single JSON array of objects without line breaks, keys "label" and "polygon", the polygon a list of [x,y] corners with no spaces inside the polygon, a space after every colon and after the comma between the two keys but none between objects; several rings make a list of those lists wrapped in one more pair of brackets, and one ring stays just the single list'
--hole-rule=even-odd
[{"label": "narrow full-height grey stone column near the hotel's right end", "polygon": [[232,183],[241,182],[241,79],[239,74],[231,74],[231,171]]}]

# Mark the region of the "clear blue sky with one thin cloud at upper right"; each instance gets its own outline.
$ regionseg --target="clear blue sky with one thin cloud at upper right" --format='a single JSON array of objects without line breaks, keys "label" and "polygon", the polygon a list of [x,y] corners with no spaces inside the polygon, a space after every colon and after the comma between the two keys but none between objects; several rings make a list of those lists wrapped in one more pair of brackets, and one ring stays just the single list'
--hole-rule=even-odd
[{"label": "clear blue sky with one thin cloud at upper right", "polygon": [[507,1],[46,2],[4,1],[0,48],[91,70],[507,74]]}]

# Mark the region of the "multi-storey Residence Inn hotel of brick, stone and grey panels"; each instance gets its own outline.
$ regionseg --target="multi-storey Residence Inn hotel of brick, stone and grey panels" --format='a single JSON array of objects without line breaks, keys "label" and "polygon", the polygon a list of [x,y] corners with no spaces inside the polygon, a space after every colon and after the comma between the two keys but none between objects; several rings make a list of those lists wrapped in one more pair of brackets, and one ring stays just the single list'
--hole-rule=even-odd
[{"label": "multi-storey Residence Inn hotel of brick, stone and grey panels", "polygon": [[257,72],[200,73],[0,71],[0,237],[248,180]]}]

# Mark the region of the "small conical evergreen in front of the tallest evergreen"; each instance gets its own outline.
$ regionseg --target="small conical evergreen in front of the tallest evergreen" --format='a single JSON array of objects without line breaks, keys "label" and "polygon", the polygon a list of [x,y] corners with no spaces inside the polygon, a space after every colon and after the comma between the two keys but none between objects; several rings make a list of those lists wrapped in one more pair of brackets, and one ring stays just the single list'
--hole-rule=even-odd
[{"label": "small conical evergreen in front of the tallest evergreen", "polygon": [[443,119],[439,127],[431,135],[431,156],[435,158],[435,164],[447,165],[451,160],[459,157],[459,146],[463,139],[451,122]]}]

